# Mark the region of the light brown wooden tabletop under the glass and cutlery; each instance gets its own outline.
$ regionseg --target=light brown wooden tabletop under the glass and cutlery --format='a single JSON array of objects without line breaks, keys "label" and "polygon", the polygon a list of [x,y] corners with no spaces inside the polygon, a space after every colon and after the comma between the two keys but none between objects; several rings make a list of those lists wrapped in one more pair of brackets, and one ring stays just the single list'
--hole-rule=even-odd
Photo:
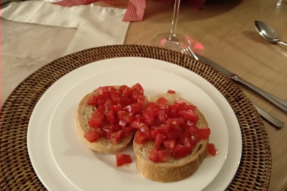
[{"label": "light brown wooden tabletop under the glass and cutlery", "polygon": [[[173,2],[147,1],[144,20],[132,22],[125,44],[150,45],[151,39],[170,32]],[[287,1],[213,0],[201,10],[181,2],[177,33],[192,39],[196,52],[221,64],[257,87],[287,101],[287,47],[259,36],[255,20],[270,24],[287,41]],[[197,43],[197,44],[196,44]],[[202,47],[201,47],[202,45]],[[203,50],[201,50],[203,49]],[[280,130],[264,122],[270,139],[272,169],[269,191],[287,190],[287,114],[242,88],[248,98],[286,123]]]}]

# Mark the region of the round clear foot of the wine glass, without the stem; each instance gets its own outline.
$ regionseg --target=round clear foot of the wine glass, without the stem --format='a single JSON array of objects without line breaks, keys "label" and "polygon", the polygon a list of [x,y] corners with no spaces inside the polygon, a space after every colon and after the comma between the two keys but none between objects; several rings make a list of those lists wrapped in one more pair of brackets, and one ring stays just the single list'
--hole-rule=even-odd
[{"label": "round clear foot of the wine glass, without the stem", "polygon": [[173,40],[171,33],[162,33],[152,39],[151,45],[155,47],[166,48],[169,50],[174,50],[181,52],[182,49],[190,47],[190,41],[180,34],[175,34],[172,37],[175,37],[176,40]]}]

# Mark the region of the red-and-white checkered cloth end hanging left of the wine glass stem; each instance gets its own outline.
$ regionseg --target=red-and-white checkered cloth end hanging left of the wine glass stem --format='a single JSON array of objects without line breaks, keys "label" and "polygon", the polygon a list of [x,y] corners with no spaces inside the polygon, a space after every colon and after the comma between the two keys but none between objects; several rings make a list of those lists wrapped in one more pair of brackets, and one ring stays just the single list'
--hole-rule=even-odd
[{"label": "red-and-white checkered cloth end hanging left of the wine glass stem", "polygon": [[141,21],[144,17],[144,9],[146,8],[145,0],[129,0],[126,14],[123,21]]}]

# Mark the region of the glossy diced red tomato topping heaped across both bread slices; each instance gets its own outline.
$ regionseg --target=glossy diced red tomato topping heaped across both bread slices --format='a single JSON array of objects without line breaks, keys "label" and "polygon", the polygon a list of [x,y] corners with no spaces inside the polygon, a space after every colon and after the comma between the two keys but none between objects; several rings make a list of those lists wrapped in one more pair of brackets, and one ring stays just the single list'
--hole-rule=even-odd
[{"label": "glossy diced red tomato topping heaped across both bread slices", "polygon": [[[209,128],[196,127],[198,116],[194,105],[179,100],[168,105],[164,97],[145,104],[144,90],[140,84],[131,88],[122,85],[118,90],[112,86],[100,87],[96,93],[87,101],[88,105],[94,106],[92,117],[88,119],[93,129],[85,134],[89,141],[104,137],[117,144],[137,131],[137,144],[154,141],[149,159],[163,162],[166,154],[174,158],[189,155],[198,141],[210,136]],[[168,93],[175,91],[168,90]],[[208,149],[212,155],[216,152],[212,145]]]}]

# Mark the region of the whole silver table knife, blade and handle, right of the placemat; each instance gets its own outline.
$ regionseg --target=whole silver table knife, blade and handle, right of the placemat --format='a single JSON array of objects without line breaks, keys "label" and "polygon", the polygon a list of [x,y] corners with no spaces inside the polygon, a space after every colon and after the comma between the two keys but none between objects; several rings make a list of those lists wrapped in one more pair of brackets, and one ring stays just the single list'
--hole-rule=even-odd
[{"label": "whole silver table knife, blade and handle, right of the placemat", "polygon": [[216,70],[220,71],[224,75],[226,75],[228,78],[232,79],[233,81],[244,85],[248,89],[252,90],[253,92],[257,93],[259,96],[262,96],[266,100],[270,101],[272,104],[274,104],[276,107],[279,109],[283,110],[284,112],[287,113],[287,102],[283,101],[280,98],[277,98],[264,90],[260,89],[259,87],[254,86],[253,84],[249,83],[248,81],[245,81],[244,79],[240,78],[237,76],[235,73],[227,70],[226,68],[222,67],[221,65],[215,63],[214,61],[196,54],[196,56],[199,58],[200,61],[203,61],[205,64],[208,64],[212,67],[214,67]]}]

